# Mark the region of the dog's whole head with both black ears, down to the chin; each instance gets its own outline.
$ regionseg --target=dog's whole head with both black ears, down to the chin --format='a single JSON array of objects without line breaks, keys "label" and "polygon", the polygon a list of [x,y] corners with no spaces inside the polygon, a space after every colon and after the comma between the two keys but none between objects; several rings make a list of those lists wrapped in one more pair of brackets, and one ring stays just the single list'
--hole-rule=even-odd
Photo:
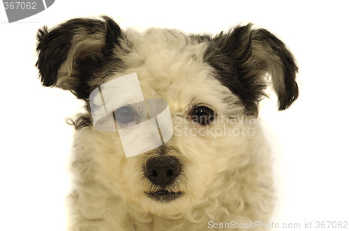
[{"label": "dog's whole head with both black ears, down to the chin", "polygon": [[[263,90],[270,81],[279,110],[298,96],[292,54],[272,33],[251,24],[212,37],[164,29],[122,31],[109,17],[71,19],[50,31],[40,29],[37,49],[43,85],[70,90],[87,102],[87,113],[74,122],[75,149],[84,159],[75,161],[80,181],[98,182],[110,195],[162,216],[209,201],[241,202],[237,192],[251,177],[244,168],[266,161],[257,164],[250,157],[260,134],[255,118]],[[144,98],[168,103],[173,136],[126,158],[118,131],[94,128],[89,95],[131,73],[137,73]],[[113,110],[121,123],[136,121],[132,106]],[[251,187],[263,184],[267,190],[272,183],[266,179]]]}]

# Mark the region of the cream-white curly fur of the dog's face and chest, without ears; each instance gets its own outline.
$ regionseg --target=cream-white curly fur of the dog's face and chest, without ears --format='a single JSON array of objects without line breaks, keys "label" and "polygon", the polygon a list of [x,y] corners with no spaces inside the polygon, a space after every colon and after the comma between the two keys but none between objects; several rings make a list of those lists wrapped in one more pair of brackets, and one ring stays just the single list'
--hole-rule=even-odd
[{"label": "cream-white curly fur of the dog's face and chest, without ears", "polygon": [[[84,127],[73,147],[69,230],[219,230],[209,229],[209,221],[267,223],[275,199],[267,142],[258,121],[244,116],[239,98],[204,63],[205,43],[162,29],[127,31],[126,37],[133,44],[121,58],[128,70],[110,79],[136,72],[144,98],[168,102],[174,136],[165,147],[182,168],[168,189],[184,196],[168,203],[148,198],[144,192],[156,186],[143,166],[156,150],[126,159],[117,133]],[[217,121],[205,129],[190,122],[187,113],[195,104],[211,106]],[[251,133],[242,134],[247,129]],[[241,133],[220,135],[224,131]]]}]

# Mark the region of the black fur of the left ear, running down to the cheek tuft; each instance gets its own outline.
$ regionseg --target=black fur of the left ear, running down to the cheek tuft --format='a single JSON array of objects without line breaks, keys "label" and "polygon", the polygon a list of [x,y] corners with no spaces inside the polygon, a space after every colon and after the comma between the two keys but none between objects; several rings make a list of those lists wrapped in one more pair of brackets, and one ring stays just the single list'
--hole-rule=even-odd
[{"label": "black fur of the left ear, running down to the cheek tuft", "polygon": [[[38,30],[37,51],[38,61],[36,67],[40,72],[43,86],[57,84],[58,71],[68,58],[70,51],[75,49],[77,43],[88,38],[93,45],[94,40],[99,47],[84,45],[74,54],[72,63],[68,63],[73,72],[68,76],[64,90],[70,90],[77,98],[84,99],[88,114],[76,120],[67,122],[76,129],[92,125],[89,109],[89,94],[98,87],[103,79],[111,74],[121,71],[124,65],[117,53],[126,53],[129,47],[121,47],[122,31],[117,23],[110,17],[102,19],[76,18],[48,30],[46,26]],[[68,74],[68,73],[67,73]],[[97,81],[97,79],[99,81]]]}]

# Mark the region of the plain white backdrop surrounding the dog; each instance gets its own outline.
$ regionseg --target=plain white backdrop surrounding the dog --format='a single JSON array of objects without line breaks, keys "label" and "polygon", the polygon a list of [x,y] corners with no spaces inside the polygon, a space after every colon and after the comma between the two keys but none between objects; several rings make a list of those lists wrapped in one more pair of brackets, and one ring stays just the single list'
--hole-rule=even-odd
[{"label": "plain white backdrop surrounding the dog", "polygon": [[[73,17],[110,15],[122,28],[218,33],[253,22],[299,63],[300,95],[260,116],[274,134],[281,192],[274,223],[349,222],[348,6],[346,1],[68,1],[8,24],[0,6],[0,230],[65,230],[73,127],[81,103],[38,80],[36,31]],[[349,226],[349,225],[348,225]],[[293,229],[289,229],[293,230]],[[322,229],[327,230],[327,229]],[[339,230],[339,229],[328,229]]]}]

